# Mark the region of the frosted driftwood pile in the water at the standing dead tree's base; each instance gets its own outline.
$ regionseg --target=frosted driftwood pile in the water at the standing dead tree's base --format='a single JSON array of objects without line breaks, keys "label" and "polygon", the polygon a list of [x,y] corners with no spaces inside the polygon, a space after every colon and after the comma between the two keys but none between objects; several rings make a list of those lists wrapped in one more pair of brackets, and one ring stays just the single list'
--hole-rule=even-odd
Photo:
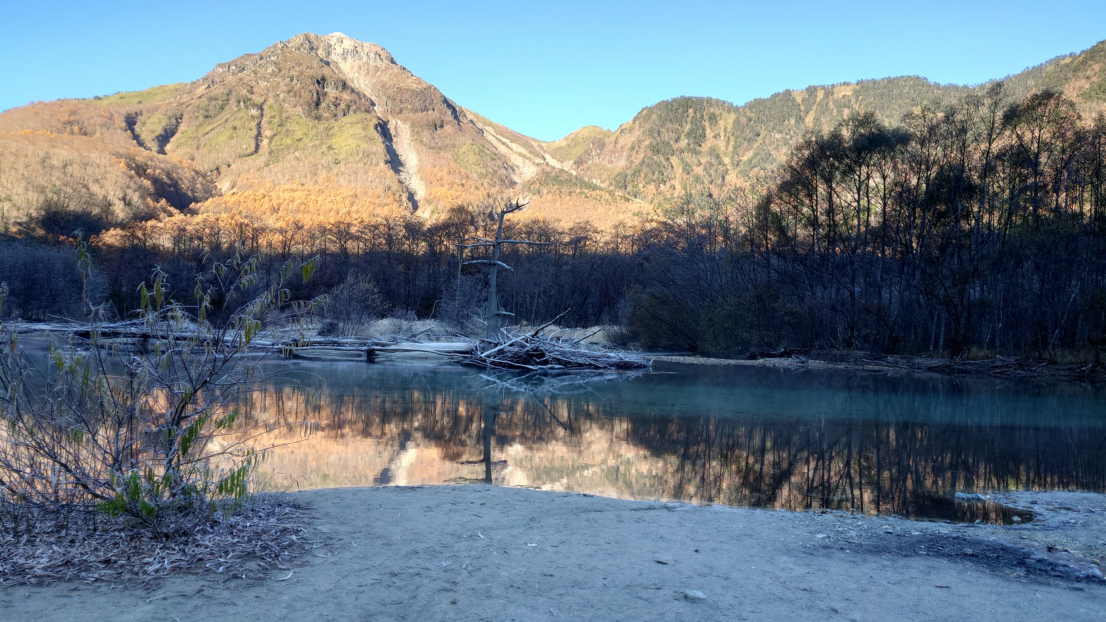
[{"label": "frosted driftwood pile in the water at the standing dead tree's base", "polygon": [[559,336],[566,332],[565,329],[544,333],[563,317],[564,313],[533,331],[504,330],[503,339],[498,342],[481,340],[473,344],[472,352],[461,355],[460,361],[492,370],[526,371],[641,370],[653,364],[637,352],[584,343],[603,328],[578,339]]}]

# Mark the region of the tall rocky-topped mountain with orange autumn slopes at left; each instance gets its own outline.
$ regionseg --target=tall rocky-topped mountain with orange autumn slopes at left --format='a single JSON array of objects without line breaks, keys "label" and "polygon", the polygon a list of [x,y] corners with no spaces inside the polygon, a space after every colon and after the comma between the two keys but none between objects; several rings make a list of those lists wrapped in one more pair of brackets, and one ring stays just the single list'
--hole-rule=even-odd
[{"label": "tall rocky-topped mountain with orange autumn slopes at left", "polygon": [[[11,229],[65,207],[106,225],[185,209],[310,221],[331,216],[320,204],[432,219],[552,168],[540,145],[457,106],[378,45],[301,34],[188,84],[0,114],[0,220]],[[557,187],[534,214],[557,217],[561,195],[581,211],[630,214],[625,197]]]}]

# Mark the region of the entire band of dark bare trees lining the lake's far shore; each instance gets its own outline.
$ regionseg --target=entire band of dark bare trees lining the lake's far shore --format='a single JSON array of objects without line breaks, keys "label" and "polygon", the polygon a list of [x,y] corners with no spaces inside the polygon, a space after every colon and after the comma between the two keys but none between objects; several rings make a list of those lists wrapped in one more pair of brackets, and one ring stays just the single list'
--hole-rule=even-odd
[{"label": "entire band of dark bare trees lining the lake's far shore", "polygon": [[[644,348],[743,355],[771,348],[952,356],[1097,357],[1106,346],[1106,118],[1063,95],[983,93],[812,131],[775,174],[660,203],[662,217],[599,229],[540,219],[510,237],[502,305],[518,321],[623,326]],[[65,246],[92,236],[107,307],[126,317],[155,267],[177,296],[242,249],[262,272],[321,257],[310,291],[349,325],[380,314],[478,321],[482,273],[455,242],[489,235],[488,206],[325,225],[241,214],[138,220],[43,210],[0,241],[7,317],[80,310]],[[32,239],[33,238],[33,239]],[[72,267],[72,270],[70,268]],[[66,277],[66,274],[73,274]],[[259,287],[262,287],[259,284]],[[304,286],[306,287],[306,286]]]}]

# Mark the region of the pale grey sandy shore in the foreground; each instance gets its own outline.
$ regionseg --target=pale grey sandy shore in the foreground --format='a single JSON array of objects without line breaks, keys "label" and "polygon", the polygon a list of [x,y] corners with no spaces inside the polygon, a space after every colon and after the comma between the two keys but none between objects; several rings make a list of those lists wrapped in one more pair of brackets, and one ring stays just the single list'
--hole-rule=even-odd
[{"label": "pale grey sandy shore in the foreground", "polygon": [[[1103,620],[1106,500],[960,526],[493,486],[301,493],[286,570],[0,588],[4,621]],[[1067,549],[1066,551],[1064,549]],[[1106,563],[1106,562],[1103,562]],[[244,578],[243,578],[244,577]]]}]

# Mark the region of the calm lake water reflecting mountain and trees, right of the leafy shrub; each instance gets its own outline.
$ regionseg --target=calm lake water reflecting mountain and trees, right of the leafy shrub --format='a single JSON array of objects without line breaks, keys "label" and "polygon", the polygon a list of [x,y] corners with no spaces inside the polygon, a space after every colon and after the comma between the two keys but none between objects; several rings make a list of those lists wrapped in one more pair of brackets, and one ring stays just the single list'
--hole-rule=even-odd
[{"label": "calm lake water reflecting mountain and trees, right of the leafy shrub", "polygon": [[[265,486],[474,483],[741,507],[1011,522],[956,493],[1106,491],[1106,387],[659,364],[585,380],[265,363]],[[307,424],[299,422],[309,422]]]}]

